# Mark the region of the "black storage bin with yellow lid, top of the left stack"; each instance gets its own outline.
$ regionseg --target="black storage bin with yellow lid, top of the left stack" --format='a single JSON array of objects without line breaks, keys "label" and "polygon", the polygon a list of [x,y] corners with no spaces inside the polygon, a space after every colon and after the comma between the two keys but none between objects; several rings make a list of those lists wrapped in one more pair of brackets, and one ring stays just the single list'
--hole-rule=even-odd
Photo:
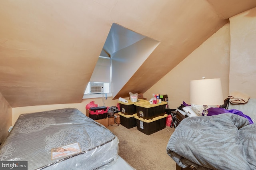
[{"label": "black storage bin with yellow lid, top of the left stack", "polygon": [[131,102],[130,100],[128,100],[128,103],[118,101],[120,105],[120,112],[123,113],[124,115],[133,115],[134,113],[136,113],[136,107],[134,103],[140,103],[145,101],[146,100],[143,100],[143,99],[138,99],[137,102]]}]

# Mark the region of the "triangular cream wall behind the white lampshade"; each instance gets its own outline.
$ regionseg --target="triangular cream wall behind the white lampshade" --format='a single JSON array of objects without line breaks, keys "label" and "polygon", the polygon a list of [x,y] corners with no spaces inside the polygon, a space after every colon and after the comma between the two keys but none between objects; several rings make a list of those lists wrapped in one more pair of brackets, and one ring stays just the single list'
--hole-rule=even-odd
[{"label": "triangular cream wall behind the white lampshade", "polygon": [[226,99],[229,94],[229,56],[230,24],[226,24],[143,96],[150,99],[152,93],[167,94],[169,108],[176,109],[182,101],[190,103],[190,80],[205,76],[207,79],[221,79],[223,98]]}]

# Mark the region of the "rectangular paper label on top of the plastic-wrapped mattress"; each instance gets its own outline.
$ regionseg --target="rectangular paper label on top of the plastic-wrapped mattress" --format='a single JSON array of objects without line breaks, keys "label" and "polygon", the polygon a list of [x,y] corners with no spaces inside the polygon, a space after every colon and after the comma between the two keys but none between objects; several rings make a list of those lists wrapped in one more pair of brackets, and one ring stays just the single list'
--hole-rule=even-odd
[{"label": "rectangular paper label on top of the plastic-wrapped mattress", "polygon": [[66,146],[52,148],[51,150],[52,159],[74,155],[79,152],[81,152],[81,150],[77,142]]}]

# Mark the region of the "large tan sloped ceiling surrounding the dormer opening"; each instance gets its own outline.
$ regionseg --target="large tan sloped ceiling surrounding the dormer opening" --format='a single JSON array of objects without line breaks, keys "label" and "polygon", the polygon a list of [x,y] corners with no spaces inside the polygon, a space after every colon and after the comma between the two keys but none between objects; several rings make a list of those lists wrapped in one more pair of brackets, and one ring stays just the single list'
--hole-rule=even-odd
[{"label": "large tan sloped ceiling surrounding the dormer opening", "polygon": [[[0,93],[11,107],[80,103],[112,23],[160,42],[114,99],[144,93],[228,18],[255,6],[255,0],[1,0]],[[164,69],[147,76],[155,67]]]}]

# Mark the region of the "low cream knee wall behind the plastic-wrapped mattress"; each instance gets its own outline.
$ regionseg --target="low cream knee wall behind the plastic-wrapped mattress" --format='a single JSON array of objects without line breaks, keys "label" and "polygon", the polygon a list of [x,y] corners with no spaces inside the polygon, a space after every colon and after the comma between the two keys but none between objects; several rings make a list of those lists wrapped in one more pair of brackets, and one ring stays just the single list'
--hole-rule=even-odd
[{"label": "low cream knee wall behind the plastic-wrapped mattress", "polygon": [[[127,98],[125,98],[127,99]],[[94,103],[99,106],[117,106],[118,100],[112,100],[112,97],[105,98],[95,98],[95,99],[83,99],[81,103],[72,103],[72,104],[59,104],[59,105],[42,105],[42,106],[28,106],[28,107],[16,107],[12,108],[12,125],[16,122],[20,114],[23,113],[34,113],[40,111],[48,111],[54,109],[63,109],[63,108],[76,108],[82,113],[86,114],[86,105],[94,101]]]}]

